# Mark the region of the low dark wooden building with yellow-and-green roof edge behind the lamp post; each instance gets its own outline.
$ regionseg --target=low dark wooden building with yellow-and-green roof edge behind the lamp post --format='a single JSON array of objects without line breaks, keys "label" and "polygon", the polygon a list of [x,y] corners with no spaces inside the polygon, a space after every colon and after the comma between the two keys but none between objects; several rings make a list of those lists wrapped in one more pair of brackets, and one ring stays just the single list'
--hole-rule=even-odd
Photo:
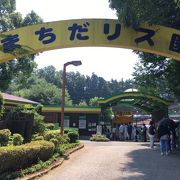
[{"label": "low dark wooden building with yellow-and-green roof edge behind the lamp post", "polygon": [[[64,127],[76,128],[80,135],[89,136],[96,133],[101,108],[95,106],[66,106],[64,109]],[[61,107],[59,105],[45,105],[42,108],[45,122],[61,122]]]}]

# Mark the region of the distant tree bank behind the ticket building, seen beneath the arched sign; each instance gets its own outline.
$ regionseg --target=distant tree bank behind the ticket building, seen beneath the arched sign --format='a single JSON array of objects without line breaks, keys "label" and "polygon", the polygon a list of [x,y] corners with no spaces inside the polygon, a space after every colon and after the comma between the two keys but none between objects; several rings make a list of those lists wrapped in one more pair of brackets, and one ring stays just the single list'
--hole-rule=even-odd
[{"label": "distant tree bank behind the ticket building, seen beneath the arched sign", "polygon": [[[131,80],[106,81],[94,73],[91,76],[84,76],[79,72],[68,72],[66,78],[66,105],[96,105],[98,98],[121,93],[133,86]],[[36,69],[26,84],[21,83],[18,78],[14,79],[8,92],[42,104],[59,104],[61,81],[62,71],[47,66]]]}]

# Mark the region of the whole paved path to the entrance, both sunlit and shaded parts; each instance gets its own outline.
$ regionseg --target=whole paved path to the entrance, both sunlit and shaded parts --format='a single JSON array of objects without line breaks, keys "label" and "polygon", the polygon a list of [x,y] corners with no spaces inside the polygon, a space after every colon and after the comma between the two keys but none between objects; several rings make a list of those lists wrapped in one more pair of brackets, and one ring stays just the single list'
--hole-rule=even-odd
[{"label": "whole paved path to the entrance, both sunlit and shaded parts", "polygon": [[89,142],[39,180],[178,180],[180,153],[160,156],[142,142]]}]

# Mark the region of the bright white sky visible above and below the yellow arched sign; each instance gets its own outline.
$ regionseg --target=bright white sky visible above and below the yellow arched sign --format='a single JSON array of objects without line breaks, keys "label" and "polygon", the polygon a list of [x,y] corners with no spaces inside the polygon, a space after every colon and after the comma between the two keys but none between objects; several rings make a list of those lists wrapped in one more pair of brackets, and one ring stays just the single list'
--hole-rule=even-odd
[{"label": "bright white sky visible above and below the yellow arched sign", "polygon": [[[108,0],[16,0],[16,9],[23,17],[35,11],[44,22],[82,18],[117,19],[109,8]],[[53,65],[62,70],[68,61],[81,60],[82,65],[68,66],[67,72],[78,71],[83,75],[96,75],[109,81],[132,78],[133,67],[138,61],[132,50],[112,47],[78,47],[40,53],[35,61],[38,68]]]}]

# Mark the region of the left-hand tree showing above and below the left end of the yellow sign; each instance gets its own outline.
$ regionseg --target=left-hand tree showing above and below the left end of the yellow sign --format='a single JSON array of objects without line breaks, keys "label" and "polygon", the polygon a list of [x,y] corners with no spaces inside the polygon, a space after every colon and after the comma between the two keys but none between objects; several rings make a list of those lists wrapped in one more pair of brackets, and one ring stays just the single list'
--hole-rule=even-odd
[{"label": "left-hand tree showing above and below the left end of the yellow sign", "polygon": [[[0,1],[0,32],[42,22],[42,19],[33,11],[23,19],[22,15],[15,12],[15,10],[15,0]],[[3,37],[0,36],[1,40],[2,38]],[[18,77],[19,81],[25,82],[36,67],[34,58],[35,55],[28,55],[6,63],[1,63],[0,90],[5,91],[15,77]]]}]

